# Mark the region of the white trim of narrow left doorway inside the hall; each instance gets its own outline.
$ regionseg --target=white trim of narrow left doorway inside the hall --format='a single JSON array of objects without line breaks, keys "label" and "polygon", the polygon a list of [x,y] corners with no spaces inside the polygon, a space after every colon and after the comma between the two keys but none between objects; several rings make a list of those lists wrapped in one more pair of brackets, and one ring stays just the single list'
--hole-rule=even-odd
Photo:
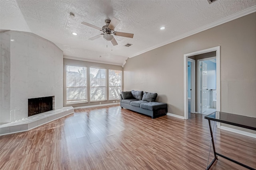
[{"label": "white trim of narrow left doorway inside the hall", "polygon": [[[191,62],[191,72],[190,72],[190,78],[191,78],[191,84],[190,84],[190,88],[192,89],[190,91],[190,113],[195,113],[196,112],[196,104],[195,104],[195,101],[196,101],[196,94],[195,94],[195,87],[196,87],[196,61],[194,59],[190,59],[188,58],[188,62]],[[188,78],[186,79],[188,81]],[[188,84],[188,82],[187,82]],[[187,90],[190,90],[188,89],[187,87]]]}]

